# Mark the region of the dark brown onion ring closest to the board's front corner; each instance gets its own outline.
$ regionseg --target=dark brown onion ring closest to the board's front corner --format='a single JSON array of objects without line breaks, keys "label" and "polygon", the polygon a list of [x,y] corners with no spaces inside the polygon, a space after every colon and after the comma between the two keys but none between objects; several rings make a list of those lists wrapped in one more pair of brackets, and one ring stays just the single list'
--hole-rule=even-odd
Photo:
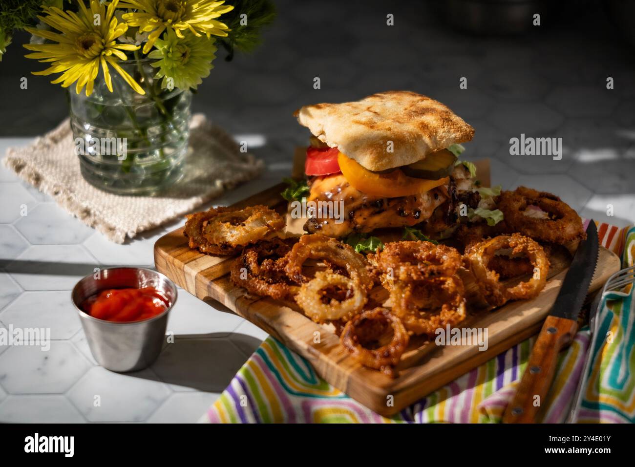
[{"label": "dark brown onion ring closest to the board's front corner", "polygon": [[[370,349],[378,343],[388,328],[392,328],[392,339],[389,343]],[[352,353],[364,367],[382,370],[390,377],[395,377],[394,367],[408,346],[408,333],[397,316],[385,308],[364,311],[346,323],[340,343]]]}]

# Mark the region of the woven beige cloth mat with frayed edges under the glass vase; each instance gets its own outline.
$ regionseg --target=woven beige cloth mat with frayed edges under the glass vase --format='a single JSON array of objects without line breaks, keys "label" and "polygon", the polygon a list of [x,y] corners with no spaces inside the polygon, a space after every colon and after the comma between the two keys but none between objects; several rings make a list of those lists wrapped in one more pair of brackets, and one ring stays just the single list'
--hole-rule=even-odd
[{"label": "woven beige cloth mat with frayed edges under the glass vase", "polygon": [[87,226],[124,243],[126,237],[134,238],[257,177],[264,168],[262,160],[240,152],[234,139],[203,114],[192,116],[190,147],[184,177],[161,196],[120,196],[86,182],[69,119],[27,147],[10,147],[4,164]]}]

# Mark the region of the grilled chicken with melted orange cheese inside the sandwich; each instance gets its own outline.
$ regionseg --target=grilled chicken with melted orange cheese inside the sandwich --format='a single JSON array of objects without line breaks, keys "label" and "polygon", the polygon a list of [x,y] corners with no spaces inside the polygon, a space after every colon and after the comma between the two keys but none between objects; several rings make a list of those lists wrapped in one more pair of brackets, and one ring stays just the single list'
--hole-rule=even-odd
[{"label": "grilled chicken with melted orange cheese inside the sandwich", "polygon": [[[381,198],[364,194],[347,182],[343,175],[315,177],[309,181],[311,194],[308,201],[315,201],[318,212],[304,225],[309,233],[323,233],[342,237],[351,233],[371,232],[382,227],[414,226],[431,217],[432,212],[448,200],[445,188],[439,187],[426,193],[399,198]],[[332,201],[344,206],[342,217],[334,219]],[[338,208],[335,208],[338,209]]]}]

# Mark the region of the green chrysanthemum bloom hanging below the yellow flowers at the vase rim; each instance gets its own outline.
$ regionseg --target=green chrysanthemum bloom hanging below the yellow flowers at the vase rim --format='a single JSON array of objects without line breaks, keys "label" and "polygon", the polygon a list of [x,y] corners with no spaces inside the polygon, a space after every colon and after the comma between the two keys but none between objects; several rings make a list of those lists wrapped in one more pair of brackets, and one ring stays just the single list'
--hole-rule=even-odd
[{"label": "green chrysanthemum bloom hanging below the yellow flowers at the vase rim", "polygon": [[154,45],[156,50],[148,57],[157,58],[152,66],[159,69],[154,78],[163,78],[161,88],[196,89],[214,67],[211,64],[216,58],[214,39],[194,34],[177,37],[168,29]]}]

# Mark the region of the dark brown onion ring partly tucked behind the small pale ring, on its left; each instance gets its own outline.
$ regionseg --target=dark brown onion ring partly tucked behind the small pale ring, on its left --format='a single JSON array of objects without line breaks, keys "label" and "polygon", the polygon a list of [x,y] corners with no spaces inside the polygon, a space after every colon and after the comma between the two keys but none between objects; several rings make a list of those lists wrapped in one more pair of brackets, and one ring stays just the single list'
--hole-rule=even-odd
[{"label": "dark brown onion ring partly tucked behind the small pale ring, on its left", "polygon": [[274,238],[245,248],[232,264],[231,281],[251,294],[276,300],[290,299],[300,290],[284,272],[285,255],[291,251],[295,241],[295,238]]}]

